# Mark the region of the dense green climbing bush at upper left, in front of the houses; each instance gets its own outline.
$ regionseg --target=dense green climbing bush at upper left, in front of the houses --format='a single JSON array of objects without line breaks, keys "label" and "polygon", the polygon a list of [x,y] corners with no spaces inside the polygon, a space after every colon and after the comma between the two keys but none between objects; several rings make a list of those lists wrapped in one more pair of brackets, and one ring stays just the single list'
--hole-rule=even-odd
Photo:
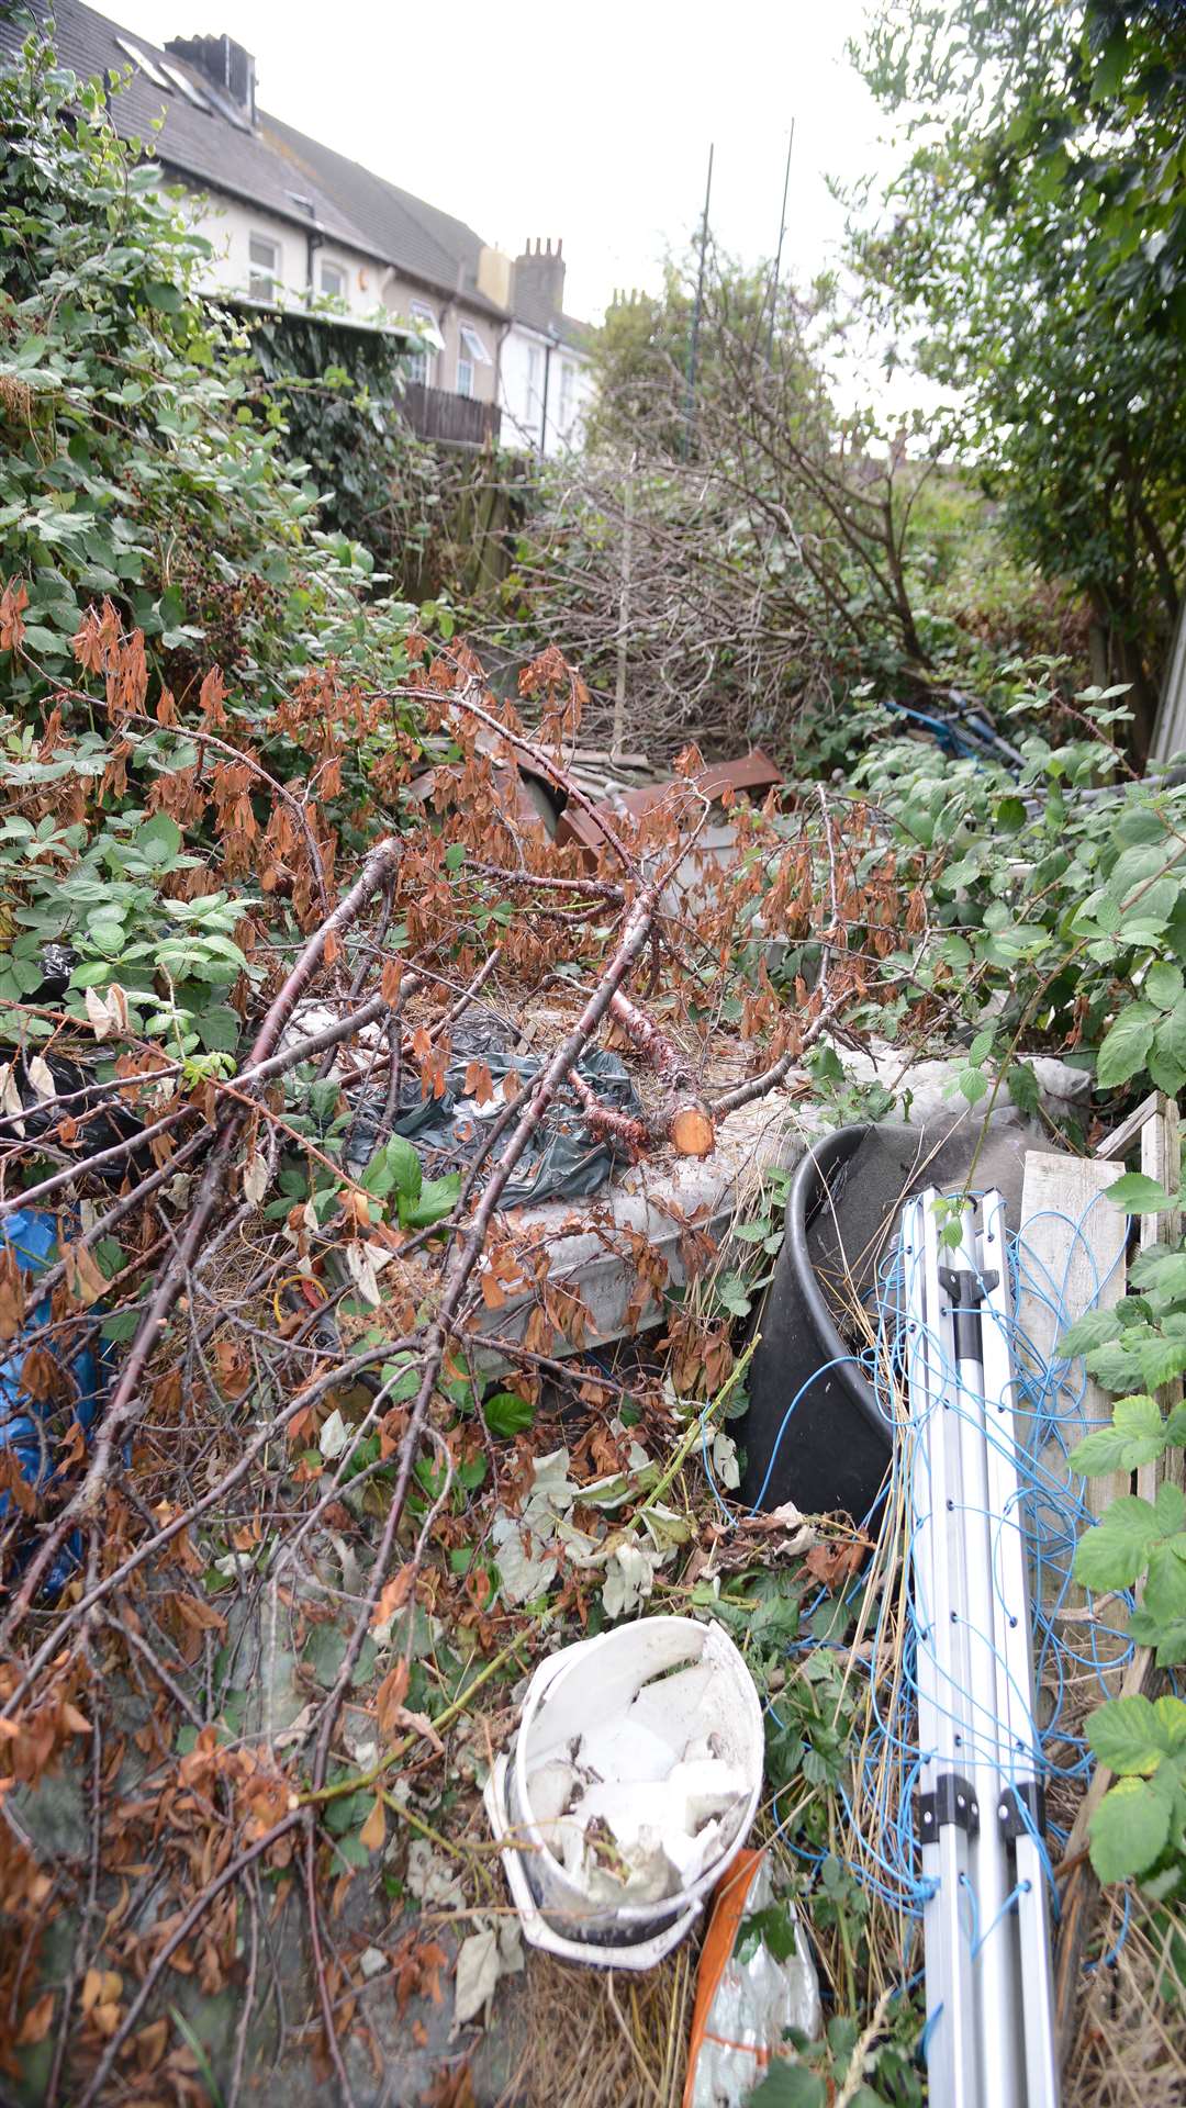
[{"label": "dense green climbing bush at upper left, in front of the houses", "polygon": [[27,588],[13,696],[74,672],[87,603],[144,630],[186,696],[219,662],[272,698],[340,658],[399,675],[409,609],[317,525],[245,331],[194,291],[209,245],[103,93],[30,38],[0,76],[0,580]]}]

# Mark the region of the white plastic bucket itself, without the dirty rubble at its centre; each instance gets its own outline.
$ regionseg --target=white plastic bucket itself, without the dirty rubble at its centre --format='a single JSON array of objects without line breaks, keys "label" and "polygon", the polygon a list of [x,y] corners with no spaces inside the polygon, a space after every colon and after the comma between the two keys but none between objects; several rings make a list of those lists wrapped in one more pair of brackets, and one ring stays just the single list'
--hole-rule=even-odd
[{"label": "white plastic bucket itself, without the dirty rubble at its centre", "polygon": [[[707,1674],[673,1682],[667,1707],[667,1676],[688,1670]],[[627,1720],[644,1691],[644,1705]],[[673,1771],[682,1750],[692,1745],[711,1745],[713,1758],[739,1777],[734,1798],[711,1819],[711,1838],[709,1821],[703,1823],[703,1866],[673,1893],[642,1901],[593,1895],[553,1849],[563,1817],[549,1821],[532,1804],[532,1779],[540,1781],[540,1767],[585,1752],[585,1737],[591,1737],[593,1752],[612,1750],[610,1783],[627,1796],[635,1788],[652,1802],[663,1800],[665,1762]],[[525,1937],[572,1960],[604,1960],[618,1969],[648,1969],[661,1960],[745,1844],[762,1792],[762,1758],[758,1691],[720,1625],[646,1617],[595,1640],[578,1640],[544,1661],[528,1686],[515,1748],[498,1760],[485,1790]],[[597,1771],[595,1777],[608,1779],[610,1773]]]}]

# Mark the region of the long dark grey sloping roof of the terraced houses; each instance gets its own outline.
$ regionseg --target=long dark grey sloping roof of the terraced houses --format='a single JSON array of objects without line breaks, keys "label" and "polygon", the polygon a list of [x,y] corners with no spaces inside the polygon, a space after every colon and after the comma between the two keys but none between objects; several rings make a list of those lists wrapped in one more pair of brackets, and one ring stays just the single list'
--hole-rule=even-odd
[{"label": "long dark grey sloping roof of the terraced houses", "polygon": [[[300,228],[314,228],[363,255],[382,257],[403,276],[506,320],[506,308],[479,293],[483,242],[464,219],[414,198],[281,118],[257,112],[251,126],[205,72],[82,6],[82,0],[19,0],[15,13],[0,0],[0,55],[19,51],[30,15],[40,25],[53,19],[57,55],[80,78],[131,72],[129,86],[110,99],[112,124],[120,137],[150,145],[167,169]],[[194,108],[184,89],[158,86],[129,57],[129,44],[156,72],[167,70],[173,80],[181,76],[190,82],[207,108]],[[585,325],[570,316],[557,316],[557,333],[572,348],[585,348]]]}]

